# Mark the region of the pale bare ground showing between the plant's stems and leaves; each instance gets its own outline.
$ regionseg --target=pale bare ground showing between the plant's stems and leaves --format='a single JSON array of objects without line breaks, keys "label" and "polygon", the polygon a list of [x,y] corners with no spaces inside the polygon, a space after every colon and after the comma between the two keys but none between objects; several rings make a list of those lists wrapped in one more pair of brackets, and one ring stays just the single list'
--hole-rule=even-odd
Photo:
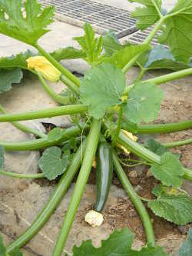
[{"label": "pale bare ground showing between the plant's stems and leaves", "polygon": [[[98,2],[109,3],[108,0],[97,0]],[[170,8],[172,1],[164,1],[165,5]],[[121,8],[131,9],[134,5],[131,5],[126,0],[110,1],[111,5],[119,6]],[[41,45],[47,51],[53,51],[55,48],[65,46],[75,46],[76,43],[71,40],[74,36],[83,34],[81,28],[74,27],[72,25],[64,24],[61,22],[55,22],[51,26],[51,32],[41,38]],[[123,41],[124,39],[121,39]],[[28,45],[22,44],[11,38],[0,35],[0,56],[12,55],[21,51],[27,50]],[[63,64],[71,71],[79,71],[84,73],[88,68],[88,65],[80,60],[65,61]],[[127,82],[136,77],[138,71],[137,68],[133,68],[127,75]],[[159,75],[162,71],[151,72],[147,74],[146,78]],[[174,81],[168,85],[162,85],[165,92],[164,105],[162,107],[159,121],[178,121],[184,118],[192,117],[191,110],[191,91],[192,80],[191,78],[181,79],[180,81]],[[56,92],[62,91],[65,86],[60,82],[57,84],[51,84],[51,88],[54,88]],[[180,99],[180,95],[183,95],[184,101]],[[56,106],[55,102],[46,95],[45,91],[41,88],[38,80],[33,76],[25,78],[21,85],[15,85],[12,91],[8,91],[4,95],[0,95],[0,103],[9,112],[17,111],[31,111],[42,108],[50,108]],[[171,103],[171,104],[170,104]],[[188,107],[187,107],[188,105]],[[183,106],[183,107],[182,107]],[[177,108],[176,108],[177,107]],[[184,112],[184,109],[188,111]],[[184,116],[185,113],[185,116]],[[63,125],[68,121],[67,118],[46,118],[38,121],[27,121],[25,124],[38,129],[43,129],[41,121],[48,121],[55,123],[56,125]],[[191,132],[183,132],[177,136],[190,135]],[[172,136],[172,135],[171,135]],[[171,136],[158,137],[161,141],[168,141]],[[175,136],[175,135],[173,135]],[[174,138],[174,137],[173,137]],[[26,141],[31,140],[31,135],[25,135],[22,131],[18,131],[10,124],[0,124],[0,140],[5,141]],[[184,164],[192,168],[190,161],[190,146],[186,147],[186,151],[183,151]],[[187,151],[189,151],[187,153]],[[5,155],[5,169],[8,171],[15,171],[21,173],[36,173],[38,171],[39,153],[38,151],[31,152],[6,152]],[[0,231],[5,238],[5,243],[9,244],[13,239],[22,234],[26,228],[28,228],[31,222],[35,219],[35,216],[41,210],[45,202],[48,200],[54,186],[48,185],[48,182],[39,184],[34,181],[15,180],[11,178],[1,177],[0,179]],[[191,192],[191,185],[185,183],[187,191]],[[73,186],[68,190],[65,198],[61,201],[60,206],[55,211],[55,215],[48,221],[48,224],[41,230],[39,234],[35,236],[24,248],[24,256],[51,256],[51,251],[54,248],[56,238],[58,236],[59,228],[63,220],[65,211],[68,207],[68,202],[71,198]],[[101,228],[90,228],[88,224],[84,222],[84,214],[86,208],[90,208],[90,205],[94,202],[94,186],[87,185],[84,193],[84,198],[81,201],[81,207],[79,208],[77,218],[74,221],[71,234],[68,238],[66,250],[71,251],[73,244],[80,244],[81,240],[93,239],[95,245],[99,245],[101,238],[107,238],[108,234],[112,231],[112,225],[108,222],[104,222]],[[108,200],[107,208],[113,207],[119,200],[127,200],[126,194],[120,188],[112,186],[110,198]],[[127,201],[127,204],[130,204]],[[170,241],[171,238],[171,241]],[[184,236],[178,236],[178,234],[171,234],[169,237],[161,239],[158,244],[164,245],[168,251],[172,251],[173,256],[177,256],[177,249],[180,245],[180,241],[184,239]],[[166,241],[167,240],[167,241]],[[135,248],[140,248],[143,242],[135,241]]]}]

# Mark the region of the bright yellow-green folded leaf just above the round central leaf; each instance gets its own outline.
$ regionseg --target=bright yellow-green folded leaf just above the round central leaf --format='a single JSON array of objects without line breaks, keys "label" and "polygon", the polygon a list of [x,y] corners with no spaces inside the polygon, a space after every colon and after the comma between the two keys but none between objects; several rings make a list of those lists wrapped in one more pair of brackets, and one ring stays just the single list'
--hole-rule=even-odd
[{"label": "bright yellow-green folded leaf just above the round central leaf", "polygon": [[146,51],[148,48],[149,45],[130,45],[114,52],[114,55],[112,55],[111,58],[102,58],[102,62],[109,62],[116,65],[118,68],[124,68],[135,55]]}]

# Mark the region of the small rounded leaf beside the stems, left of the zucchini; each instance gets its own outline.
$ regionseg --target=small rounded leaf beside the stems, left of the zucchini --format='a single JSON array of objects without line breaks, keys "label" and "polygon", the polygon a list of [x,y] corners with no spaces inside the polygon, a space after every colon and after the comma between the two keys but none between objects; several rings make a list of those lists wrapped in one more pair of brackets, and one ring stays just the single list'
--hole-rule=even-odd
[{"label": "small rounded leaf beside the stems, left of the zucchini", "polygon": [[68,167],[68,155],[61,157],[61,148],[51,147],[44,151],[38,166],[48,180],[54,180],[58,175],[63,174]]}]

